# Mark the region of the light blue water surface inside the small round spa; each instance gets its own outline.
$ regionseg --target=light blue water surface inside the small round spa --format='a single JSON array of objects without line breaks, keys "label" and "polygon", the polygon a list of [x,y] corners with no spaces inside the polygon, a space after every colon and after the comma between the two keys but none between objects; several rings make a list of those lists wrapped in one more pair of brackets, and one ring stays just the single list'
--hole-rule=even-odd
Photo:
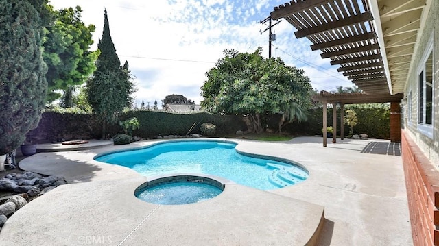
[{"label": "light blue water surface inside the small round spa", "polygon": [[222,190],[202,182],[168,182],[142,189],[136,197],[152,204],[193,204],[216,197]]}]

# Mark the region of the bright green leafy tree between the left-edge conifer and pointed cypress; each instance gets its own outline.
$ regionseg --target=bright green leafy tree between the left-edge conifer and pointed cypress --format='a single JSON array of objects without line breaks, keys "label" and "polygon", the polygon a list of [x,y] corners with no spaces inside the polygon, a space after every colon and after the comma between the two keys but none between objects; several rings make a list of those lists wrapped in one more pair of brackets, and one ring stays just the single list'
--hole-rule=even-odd
[{"label": "bright green leafy tree between the left-edge conifer and pointed cypress", "polygon": [[54,20],[46,27],[43,53],[48,66],[48,102],[61,96],[57,90],[84,84],[96,69],[95,60],[99,54],[99,51],[89,51],[95,26],[82,22],[79,6],[51,11]]}]

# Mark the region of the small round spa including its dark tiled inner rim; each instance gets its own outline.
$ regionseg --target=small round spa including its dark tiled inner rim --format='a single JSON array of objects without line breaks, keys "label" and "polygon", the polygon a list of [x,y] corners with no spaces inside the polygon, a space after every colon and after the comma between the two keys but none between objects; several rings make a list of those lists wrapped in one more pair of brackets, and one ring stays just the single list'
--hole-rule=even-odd
[{"label": "small round spa including its dark tiled inner rim", "polygon": [[224,184],[209,177],[174,175],[143,183],[134,195],[152,204],[193,204],[216,197]]}]

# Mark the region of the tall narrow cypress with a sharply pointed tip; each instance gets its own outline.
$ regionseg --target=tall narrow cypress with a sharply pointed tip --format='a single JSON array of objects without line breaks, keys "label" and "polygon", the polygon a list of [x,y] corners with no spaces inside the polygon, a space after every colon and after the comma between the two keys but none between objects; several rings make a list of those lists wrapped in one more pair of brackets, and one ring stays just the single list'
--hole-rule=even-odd
[{"label": "tall narrow cypress with a sharply pointed tip", "polygon": [[93,77],[87,81],[87,99],[93,113],[102,121],[102,137],[106,137],[106,125],[115,123],[119,113],[131,105],[134,83],[128,62],[121,66],[115,45],[110,36],[108,16],[104,11],[104,31],[97,45],[99,56]]}]

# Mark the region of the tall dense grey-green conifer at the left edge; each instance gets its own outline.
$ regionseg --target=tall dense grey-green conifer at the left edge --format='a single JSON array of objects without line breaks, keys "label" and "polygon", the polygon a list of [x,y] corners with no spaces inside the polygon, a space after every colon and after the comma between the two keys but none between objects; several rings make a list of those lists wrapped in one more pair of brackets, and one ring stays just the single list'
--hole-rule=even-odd
[{"label": "tall dense grey-green conifer at the left edge", "polygon": [[0,0],[0,155],[19,147],[40,121],[47,66],[41,56],[45,1]]}]

